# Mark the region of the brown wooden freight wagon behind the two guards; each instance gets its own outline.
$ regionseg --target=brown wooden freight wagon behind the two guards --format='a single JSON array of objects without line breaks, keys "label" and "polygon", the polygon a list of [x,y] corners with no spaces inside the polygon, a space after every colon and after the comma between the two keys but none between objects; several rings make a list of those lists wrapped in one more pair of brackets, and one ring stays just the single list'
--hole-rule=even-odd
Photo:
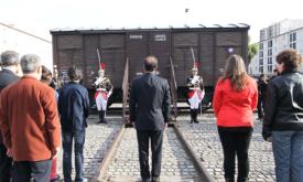
[{"label": "brown wooden freight wagon behind the two guards", "polygon": [[[84,85],[91,83],[100,60],[115,86],[111,101],[122,101],[128,83],[142,72],[143,57],[159,58],[159,74],[171,82],[174,103],[186,99],[186,77],[194,60],[206,86],[206,103],[212,100],[214,85],[223,74],[229,54],[247,60],[248,25],[228,28],[172,28],[132,30],[52,30],[54,65],[63,79],[73,64],[84,71]],[[194,52],[194,56],[192,54]],[[125,84],[123,84],[125,81]],[[175,93],[175,94],[174,94]],[[127,97],[127,90],[125,90]],[[125,98],[126,100],[127,98]]]}]

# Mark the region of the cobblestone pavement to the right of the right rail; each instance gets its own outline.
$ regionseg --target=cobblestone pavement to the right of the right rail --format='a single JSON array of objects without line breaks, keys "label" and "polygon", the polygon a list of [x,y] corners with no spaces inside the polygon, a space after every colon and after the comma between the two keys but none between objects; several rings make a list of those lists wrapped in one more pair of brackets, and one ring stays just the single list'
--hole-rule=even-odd
[{"label": "cobblestone pavement to the right of the right rail", "polygon": [[[256,116],[255,116],[256,120]],[[213,114],[199,117],[199,124],[190,124],[188,116],[180,116],[177,125],[181,131],[201,158],[209,174],[216,181],[224,181],[223,150]],[[262,124],[255,121],[255,130],[249,148],[251,182],[272,182],[274,178],[274,162],[271,143],[266,142],[261,136]]]}]

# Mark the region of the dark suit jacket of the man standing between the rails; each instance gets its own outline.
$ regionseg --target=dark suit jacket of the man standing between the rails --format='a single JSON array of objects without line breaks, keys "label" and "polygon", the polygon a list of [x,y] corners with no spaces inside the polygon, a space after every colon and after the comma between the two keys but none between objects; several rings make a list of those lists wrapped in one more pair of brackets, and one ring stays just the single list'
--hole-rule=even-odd
[{"label": "dark suit jacket of the man standing between the rails", "polygon": [[136,77],[131,83],[130,121],[138,130],[163,130],[171,114],[169,82],[152,73]]}]

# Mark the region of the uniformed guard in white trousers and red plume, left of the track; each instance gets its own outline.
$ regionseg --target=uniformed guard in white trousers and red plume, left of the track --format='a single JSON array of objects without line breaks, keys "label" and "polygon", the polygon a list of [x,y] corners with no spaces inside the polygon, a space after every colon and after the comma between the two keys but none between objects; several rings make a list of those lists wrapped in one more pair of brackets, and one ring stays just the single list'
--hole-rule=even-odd
[{"label": "uniformed guard in white trousers and red plume, left of the track", "polygon": [[97,110],[99,114],[99,124],[107,124],[106,121],[106,109],[107,100],[112,94],[113,86],[111,85],[108,77],[105,77],[105,64],[101,63],[100,69],[98,71],[98,77],[96,77],[94,84],[96,87],[95,100]]}]

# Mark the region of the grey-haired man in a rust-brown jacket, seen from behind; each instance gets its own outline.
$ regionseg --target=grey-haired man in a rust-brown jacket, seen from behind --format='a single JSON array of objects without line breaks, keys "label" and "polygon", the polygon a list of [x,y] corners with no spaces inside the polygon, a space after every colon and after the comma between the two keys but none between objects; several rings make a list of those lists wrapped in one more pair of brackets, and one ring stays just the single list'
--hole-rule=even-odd
[{"label": "grey-haired man in a rust-brown jacket, seen from behind", "polygon": [[23,77],[0,95],[0,126],[8,156],[13,158],[14,182],[50,181],[51,159],[61,146],[61,127],[53,88],[40,82],[41,61],[21,58]]}]

